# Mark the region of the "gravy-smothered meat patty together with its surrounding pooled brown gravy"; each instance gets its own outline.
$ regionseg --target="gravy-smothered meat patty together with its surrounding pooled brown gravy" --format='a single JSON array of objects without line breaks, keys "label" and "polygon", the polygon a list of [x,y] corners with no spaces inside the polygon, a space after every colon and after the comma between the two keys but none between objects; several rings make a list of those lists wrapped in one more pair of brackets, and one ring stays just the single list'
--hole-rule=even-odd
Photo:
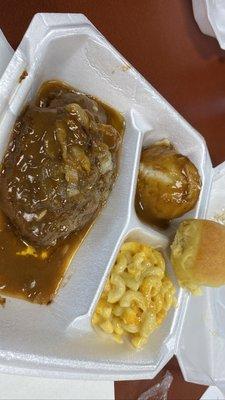
[{"label": "gravy-smothered meat patty together with its surrounding pooled brown gravy", "polygon": [[0,292],[38,303],[104,206],[117,175],[122,116],[59,82],[17,119],[1,166]]}]

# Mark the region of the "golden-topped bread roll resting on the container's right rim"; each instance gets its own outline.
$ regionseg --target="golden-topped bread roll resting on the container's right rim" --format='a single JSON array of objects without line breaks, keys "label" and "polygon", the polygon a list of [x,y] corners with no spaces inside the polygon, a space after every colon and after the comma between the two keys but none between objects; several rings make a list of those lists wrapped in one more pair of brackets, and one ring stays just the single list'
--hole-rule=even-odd
[{"label": "golden-topped bread roll resting on the container's right rim", "polygon": [[179,284],[194,294],[200,286],[225,284],[225,226],[208,220],[183,221],[171,245]]}]

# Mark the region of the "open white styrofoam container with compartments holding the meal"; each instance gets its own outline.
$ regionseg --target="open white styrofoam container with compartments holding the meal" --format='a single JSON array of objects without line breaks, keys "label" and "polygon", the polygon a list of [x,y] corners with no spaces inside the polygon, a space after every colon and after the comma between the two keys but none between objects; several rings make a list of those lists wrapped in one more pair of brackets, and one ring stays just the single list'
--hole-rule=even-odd
[{"label": "open white styrofoam container with compartments holding the meal", "polygon": [[[28,76],[19,82],[24,70]],[[201,360],[213,357],[213,340],[203,335],[199,338],[199,348],[193,348],[193,337],[197,340],[204,329],[194,317],[196,302],[201,303],[203,312],[210,290],[195,302],[177,287],[177,308],[170,311],[141,351],[103,339],[90,324],[90,316],[124,240],[137,239],[161,249],[169,275],[177,286],[168,256],[179,220],[162,233],[140,222],[135,213],[140,153],[147,143],[168,138],[195,163],[202,178],[202,191],[197,206],[185,218],[203,218],[216,191],[204,139],[85,16],[37,14],[0,79],[0,158],[22,107],[48,79],[66,81],[124,115],[126,131],[119,176],[106,207],[68,268],[55,301],[47,307],[7,299],[5,309],[0,312],[0,370],[63,378],[143,379],[153,378],[177,354],[187,380],[195,380],[191,366],[192,360],[198,360],[197,380],[205,383],[203,371],[209,367],[207,373],[211,377],[211,364]],[[225,177],[225,170],[221,174]],[[210,293],[214,299],[215,292]]]}]

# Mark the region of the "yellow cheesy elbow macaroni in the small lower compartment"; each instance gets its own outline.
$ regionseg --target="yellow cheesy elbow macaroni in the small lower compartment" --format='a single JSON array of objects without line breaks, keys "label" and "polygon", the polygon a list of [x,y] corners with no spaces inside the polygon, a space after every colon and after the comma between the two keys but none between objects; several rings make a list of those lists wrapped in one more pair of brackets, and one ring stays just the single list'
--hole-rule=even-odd
[{"label": "yellow cheesy elbow macaroni in the small lower compartment", "polygon": [[162,324],[175,305],[162,254],[138,242],[122,245],[92,317],[92,324],[118,343],[128,336],[136,348]]}]

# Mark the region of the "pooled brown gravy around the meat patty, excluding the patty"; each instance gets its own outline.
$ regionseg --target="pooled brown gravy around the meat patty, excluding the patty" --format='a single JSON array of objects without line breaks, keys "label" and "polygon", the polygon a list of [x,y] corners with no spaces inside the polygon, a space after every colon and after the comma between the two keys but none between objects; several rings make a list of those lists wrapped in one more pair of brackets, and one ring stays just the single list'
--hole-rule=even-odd
[{"label": "pooled brown gravy around the meat patty, excluding the patty", "polygon": [[[57,90],[71,88],[58,81]],[[37,101],[54,96],[54,84],[46,82],[38,92]],[[95,99],[107,114],[107,123],[121,135],[124,132],[123,117],[111,107]],[[98,210],[99,211],[99,210]],[[96,214],[95,214],[96,218]],[[29,244],[17,232],[5,214],[0,211],[0,295],[22,298],[39,304],[49,304],[54,298],[72,257],[78,250],[92,222],[78,233],[59,239],[55,246],[38,247]]]}]

